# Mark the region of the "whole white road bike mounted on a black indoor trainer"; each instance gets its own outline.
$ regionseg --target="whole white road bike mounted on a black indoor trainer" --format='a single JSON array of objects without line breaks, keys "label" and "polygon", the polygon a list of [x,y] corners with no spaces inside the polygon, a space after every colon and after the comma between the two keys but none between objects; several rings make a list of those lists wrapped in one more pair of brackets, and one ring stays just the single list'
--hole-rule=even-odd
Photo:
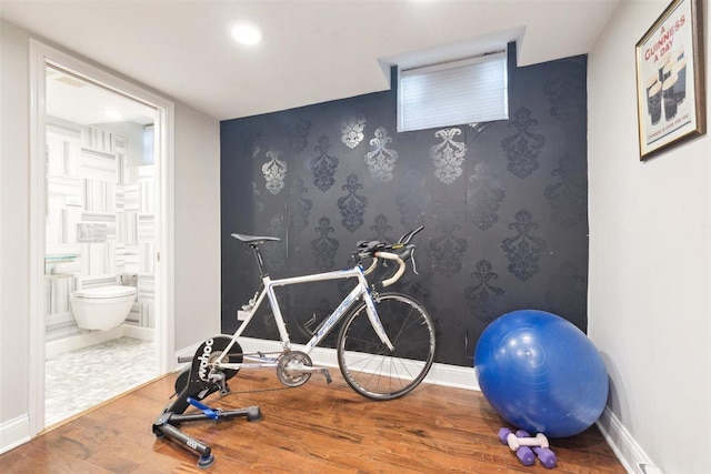
[{"label": "whole white road bike mounted on a black indoor trainer", "polygon": [[[261,288],[239,310],[241,324],[232,335],[220,334],[204,341],[176,381],[177,399],[169,404],[153,432],[173,437],[202,455],[198,464],[211,464],[209,446],[187,436],[174,427],[184,421],[247,416],[261,417],[259,409],[216,412],[200,401],[219,391],[230,392],[227,382],[242,369],[274,367],[279,381],[289,387],[304,384],[313,373],[321,373],[331,382],[328,367],[314,366],[310,353],[342,321],[336,342],[338,366],[346,382],[359,394],[378,401],[393,400],[410,393],[427,376],[434,359],[434,323],[425,309],[412,297],[385,292],[404,274],[407,262],[412,262],[415,245],[412,238],[423,228],[412,230],[394,244],[360,241],[352,254],[352,265],[344,270],[313,273],[302,276],[272,279],[262,259],[261,246],[279,242],[273,236],[233,233],[239,242],[249,245],[260,273]],[[370,262],[368,268],[363,262]],[[378,271],[377,271],[378,270]],[[382,278],[374,278],[380,274]],[[369,276],[373,281],[369,281]],[[341,303],[312,331],[302,351],[292,349],[287,323],[277,299],[276,289],[332,280],[353,280],[356,286]],[[282,350],[278,354],[244,353],[238,339],[254,319],[262,303],[269,303],[279,331]],[[203,414],[181,415],[190,405]],[[206,454],[207,453],[207,454]],[[204,467],[201,465],[201,467]]]}]

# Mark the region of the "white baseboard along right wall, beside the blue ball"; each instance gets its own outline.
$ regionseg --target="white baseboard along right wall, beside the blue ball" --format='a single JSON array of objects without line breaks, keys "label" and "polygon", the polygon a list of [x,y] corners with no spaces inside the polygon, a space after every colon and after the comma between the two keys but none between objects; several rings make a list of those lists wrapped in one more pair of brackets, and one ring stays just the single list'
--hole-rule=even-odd
[{"label": "white baseboard along right wall, beside the blue ball", "polygon": [[[644,450],[609,407],[605,406],[595,424],[628,473],[650,474],[657,472],[661,474],[661,471],[654,466]],[[644,470],[640,468],[640,465],[645,466]]]}]

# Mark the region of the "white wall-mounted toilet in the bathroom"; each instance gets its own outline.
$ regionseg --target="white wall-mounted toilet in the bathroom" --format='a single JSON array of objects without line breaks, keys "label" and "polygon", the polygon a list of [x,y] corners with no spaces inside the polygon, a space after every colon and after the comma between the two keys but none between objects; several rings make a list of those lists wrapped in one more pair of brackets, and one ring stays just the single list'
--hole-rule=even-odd
[{"label": "white wall-mounted toilet in the bathroom", "polygon": [[84,330],[108,331],[120,325],[136,301],[134,286],[99,286],[78,290],[69,296],[77,325]]}]

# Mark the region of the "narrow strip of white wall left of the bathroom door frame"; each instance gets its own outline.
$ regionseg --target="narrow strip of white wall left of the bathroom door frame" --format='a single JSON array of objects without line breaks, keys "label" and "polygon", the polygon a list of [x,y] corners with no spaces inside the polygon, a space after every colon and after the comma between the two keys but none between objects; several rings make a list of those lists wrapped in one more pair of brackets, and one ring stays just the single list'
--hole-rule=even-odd
[{"label": "narrow strip of white wall left of the bathroom door frame", "polygon": [[29,331],[29,36],[0,22],[0,448],[27,436]]}]

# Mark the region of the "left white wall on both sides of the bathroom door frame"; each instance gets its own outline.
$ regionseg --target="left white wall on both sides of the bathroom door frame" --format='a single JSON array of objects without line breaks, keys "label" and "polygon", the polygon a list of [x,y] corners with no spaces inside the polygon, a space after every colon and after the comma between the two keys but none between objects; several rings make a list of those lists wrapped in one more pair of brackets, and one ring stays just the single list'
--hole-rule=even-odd
[{"label": "left white wall on both sides of the bathroom door frame", "polygon": [[[0,452],[29,434],[31,37],[42,40],[0,21]],[[220,124],[181,103],[174,121],[174,337],[180,351],[220,330]]]}]

